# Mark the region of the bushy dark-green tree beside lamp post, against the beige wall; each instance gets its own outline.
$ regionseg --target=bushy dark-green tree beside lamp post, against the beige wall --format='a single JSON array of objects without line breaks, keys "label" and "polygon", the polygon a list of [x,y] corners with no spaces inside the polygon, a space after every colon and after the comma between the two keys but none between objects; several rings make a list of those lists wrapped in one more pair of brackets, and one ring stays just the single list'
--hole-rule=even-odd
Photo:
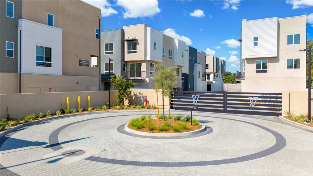
[{"label": "bushy dark-green tree beside lamp post, against the beige wall", "polygon": [[123,76],[115,77],[115,75],[111,75],[111,85],[113,90],[118,91],[116,94],[117,101],[124,104],[124,101],[131,95],[131,88],[135,87],[136,83],[133,83],[131,80],[123,80]]}]

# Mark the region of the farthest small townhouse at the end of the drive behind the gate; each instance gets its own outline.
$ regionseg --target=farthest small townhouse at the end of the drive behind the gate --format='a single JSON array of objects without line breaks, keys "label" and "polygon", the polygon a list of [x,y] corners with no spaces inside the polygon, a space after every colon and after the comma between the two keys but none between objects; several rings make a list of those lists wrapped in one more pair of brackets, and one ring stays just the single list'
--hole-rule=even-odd
[{"label": "farthest small townhouse at the end of the drive behind the gate", "polygon": [[206,91],[223,91],[223,76],[226,61],[214,56],[206,56],[205,78]]}]

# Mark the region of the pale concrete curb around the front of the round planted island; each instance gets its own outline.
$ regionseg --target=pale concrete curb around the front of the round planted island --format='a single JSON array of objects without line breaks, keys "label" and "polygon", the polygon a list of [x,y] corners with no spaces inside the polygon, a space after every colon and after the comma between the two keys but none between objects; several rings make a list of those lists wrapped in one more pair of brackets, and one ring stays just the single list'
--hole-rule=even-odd
[{"label": "pale concrete curb around the front of the round planted island", "polygon": [[136,131],[133,129],[130,129],[128,126],[129,123],[127,123],[125,125],[125,131],[126,132],[130,132],[133,134],[137,134],[137,135],[141,135],[141,136],[156,136],[156,137],[178,137],[178,136],[191,136],[194,134],[198,134],[201,132],[204,132],[206,130],[205,126],[203,124],[202,128],[195,130],[195,131],[191,131],[191,132],[179,132],[179,133],[152,133],[152,132],[140,132],[140,131]]}]

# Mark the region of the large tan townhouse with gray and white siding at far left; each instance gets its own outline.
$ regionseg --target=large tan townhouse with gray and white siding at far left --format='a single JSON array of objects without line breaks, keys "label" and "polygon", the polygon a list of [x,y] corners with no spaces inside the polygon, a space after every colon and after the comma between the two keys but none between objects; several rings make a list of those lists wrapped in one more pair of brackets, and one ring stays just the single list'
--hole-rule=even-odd
[{"label": "large tan townhouse with gray and white siding at far left", "polygon": [[101,10],[82,1],[1,1],[1,94],[100,90]]}]

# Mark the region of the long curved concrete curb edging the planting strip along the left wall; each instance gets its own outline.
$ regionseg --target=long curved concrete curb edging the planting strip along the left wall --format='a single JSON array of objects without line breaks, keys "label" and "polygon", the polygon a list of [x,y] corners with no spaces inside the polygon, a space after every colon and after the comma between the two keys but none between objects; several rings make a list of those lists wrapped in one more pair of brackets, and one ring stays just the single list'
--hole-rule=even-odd
[{"label": "long curved concrete curb edging the planting strip along the left wall", "polygon": [[[136,109],[134,109],[136,110]],[[54,117],[48,117],[48,118],[44,118],[44,119],[39,119],[39,120],[35,120],[32,122],[27,122],[27,123],[23,123],[21,125],[6,129],[2,132],[0,132],[0,137],[3,137],[5,135],[7,135],[10,132],[13,132],[15,130],[18,130],[20,128],[26,127],[26,126],[30,126],[39,122],[44,122],[44,121],[49,121],[49,120],[54,120],[54,119],[59,119],[59,118],[65,118],[65,117],[74,117],[74,116],[84,116],[84,115],[92,115],[92,114],[101,114],[101,113],[111,113],[111,112],[127,112],[127,111],[131,111],[131,110],[114,110],[114,111],[94,111],[94,112],[81,112],[81,113],[75,113],[75,114],[66,114],[66,115],[62,115],[62,116],[54,116]],[[157,109],[137,109],[136,111],[140,111],[140,112],[149,112],[149,111],[157,111]],[[165,109],[164,111],[168,111],[168,109]],[[171,109],[171,111],[175,111],[175,109]]]}]

